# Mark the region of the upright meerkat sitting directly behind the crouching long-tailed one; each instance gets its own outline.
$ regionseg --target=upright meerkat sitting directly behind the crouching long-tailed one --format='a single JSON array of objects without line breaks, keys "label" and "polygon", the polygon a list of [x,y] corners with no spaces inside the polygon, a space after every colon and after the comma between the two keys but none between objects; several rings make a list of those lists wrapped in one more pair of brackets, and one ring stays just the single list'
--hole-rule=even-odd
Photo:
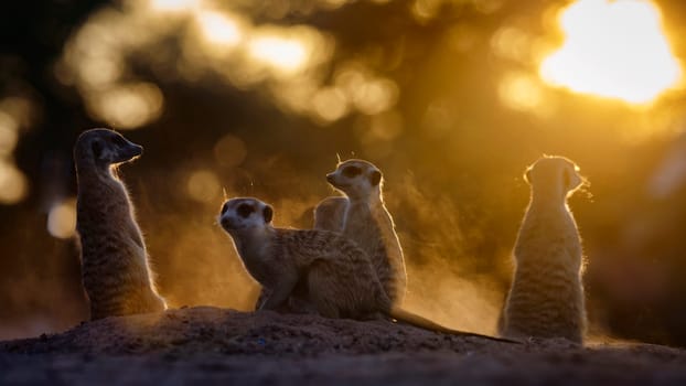
[{"label": "upright meerkat sitting directly behind the crouching long-tailed one", "polygon": [[407,288],[405,258],[384,204],[380,170],[372,162],[352,159],[340,162],[326,181],[345,197],[328,197],[315,207],[315,228],[332,224],[330,230],[355,242],[369,257],[388,298],[401,303]]}]

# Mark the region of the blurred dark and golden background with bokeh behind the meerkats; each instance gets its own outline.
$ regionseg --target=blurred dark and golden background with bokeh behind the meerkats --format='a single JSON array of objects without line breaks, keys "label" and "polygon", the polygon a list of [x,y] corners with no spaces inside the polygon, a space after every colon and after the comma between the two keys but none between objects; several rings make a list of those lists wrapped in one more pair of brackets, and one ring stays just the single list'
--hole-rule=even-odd
[{"label": "blurred dark and golden background with bokeh behind the meerkats", "polygon": [[72,146],[110,127],[170,305],[248,310],[216,225],[254,195],[309,227],[336,157],[385,175],[406,308],[493,333],[544,153],[570,200],[593,335],[686,345],[686,3],[36,0],[0,6],[0,339],[87,318]]}]

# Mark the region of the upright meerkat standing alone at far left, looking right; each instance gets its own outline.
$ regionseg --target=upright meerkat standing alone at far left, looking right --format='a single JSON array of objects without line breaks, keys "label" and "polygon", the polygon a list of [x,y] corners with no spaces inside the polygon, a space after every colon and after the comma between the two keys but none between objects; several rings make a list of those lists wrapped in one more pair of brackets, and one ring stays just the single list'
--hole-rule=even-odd
[{"label": "upright meerkat standing alone at far left, looking right", "polygon": [[108,129],[83,132],[74,147],[83,285],[90,320],[167,309],[156,290],[133,205],[117,165],[142,147]]}]

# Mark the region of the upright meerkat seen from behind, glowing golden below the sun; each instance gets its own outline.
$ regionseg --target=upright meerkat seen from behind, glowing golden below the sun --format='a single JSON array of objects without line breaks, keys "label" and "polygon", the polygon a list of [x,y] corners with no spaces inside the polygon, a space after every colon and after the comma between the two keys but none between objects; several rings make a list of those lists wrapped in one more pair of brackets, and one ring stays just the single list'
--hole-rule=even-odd
[{"label": "upright meerkat seen from behind, glowing golden below the sun", "polygon": [[501,334],[583,343],[582,248],[567,199],[586,180],[570,160],[547,156],[524,179],[532,195],[514,247],[514,279]]}]

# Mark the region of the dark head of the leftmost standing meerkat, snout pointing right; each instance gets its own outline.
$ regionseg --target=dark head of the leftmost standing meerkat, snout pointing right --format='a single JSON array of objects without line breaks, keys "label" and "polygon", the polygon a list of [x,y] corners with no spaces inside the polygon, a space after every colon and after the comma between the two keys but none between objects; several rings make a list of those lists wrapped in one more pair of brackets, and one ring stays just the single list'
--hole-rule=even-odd
[{"label": "dark head of the leftmost standing meerkat, snout pointing right", "polygon": [[77,163],[93,162],[97,167],[130,161],[143,153],[143,148],[120,133],[108,129],[84,131],[76,140],[74,158]]}]

